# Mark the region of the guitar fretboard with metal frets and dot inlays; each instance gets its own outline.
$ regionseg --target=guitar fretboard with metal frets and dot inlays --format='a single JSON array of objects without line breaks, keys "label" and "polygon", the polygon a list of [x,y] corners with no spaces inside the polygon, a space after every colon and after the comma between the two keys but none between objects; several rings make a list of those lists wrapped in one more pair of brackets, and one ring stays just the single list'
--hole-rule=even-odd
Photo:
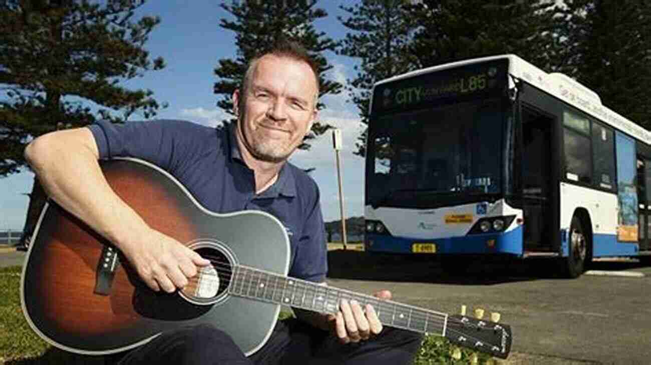
[{"label": "guitar fretboard with metal frets and dot inlays", "polygon": [[381,300],[314,282],[236,265],[229,293],[268,303],[283,304],[312,312],[335,314],[342,299],[355,300],[364,308],[371,304],[383,325],[445,336],[448,315],[408,304]]}]

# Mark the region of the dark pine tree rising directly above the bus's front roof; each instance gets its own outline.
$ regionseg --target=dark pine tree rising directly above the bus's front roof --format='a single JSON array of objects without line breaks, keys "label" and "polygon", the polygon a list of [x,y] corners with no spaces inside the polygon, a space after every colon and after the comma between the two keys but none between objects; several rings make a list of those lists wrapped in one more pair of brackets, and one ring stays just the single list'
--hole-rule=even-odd
[{"label": "dark pine tree rising directly above the bus's front roof", "polygon": [[421,28],[411,51],[421,68],[514,53],[554,70],[554,8],[549,1],[423,0],[413,7]]}]

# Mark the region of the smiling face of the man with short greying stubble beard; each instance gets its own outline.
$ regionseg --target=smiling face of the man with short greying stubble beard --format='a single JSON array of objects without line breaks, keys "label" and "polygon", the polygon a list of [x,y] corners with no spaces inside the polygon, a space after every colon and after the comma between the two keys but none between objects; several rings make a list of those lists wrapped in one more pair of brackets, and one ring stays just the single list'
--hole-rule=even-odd
[{"label": "smiling face of the man with short greying stubble beard", "polygon": [[284,161],[316,118],[314,72],[305,62],[265,55],[258,60],[245,92],[233,93],[235,105],[244,98],[238,115],[239,137],[256,159]]}]

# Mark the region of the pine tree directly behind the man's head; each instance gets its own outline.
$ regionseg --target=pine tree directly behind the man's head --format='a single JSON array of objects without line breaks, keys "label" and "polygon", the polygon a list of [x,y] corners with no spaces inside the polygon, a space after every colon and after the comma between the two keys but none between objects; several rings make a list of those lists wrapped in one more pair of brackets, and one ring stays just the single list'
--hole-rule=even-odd
[{"label": "pine tree directly behind the man's head", "polygon": [[[214,73],[219,79],[214,86],[215,94],[219,95],[218,107],[233,115],[231,96],[234,90],[242,85],[247,62],[281,38],[295,40],[301,44],[318,63],[320,96],[340,92],[342,88],[340,83],[324,77],[333,67],[327,62],[324,53],[334,51],[337,44],[328,38],[326,33],[314,29],[312,23],[327,16],[325,10],[315,7],[316,2],[317,0],[245,0],[220,5],[234,17],[234,20],[222,19],[219,26],[235,32],[237,51],[235,58],[220,59],[215,67]],[[324,105],[318,103],[317,107],[322,109]],[[329,128],[327,124],[314,122],[312,133],[305,139],[321,135]],[[307,149],[309,145],[303,143],[299,148]]]}]

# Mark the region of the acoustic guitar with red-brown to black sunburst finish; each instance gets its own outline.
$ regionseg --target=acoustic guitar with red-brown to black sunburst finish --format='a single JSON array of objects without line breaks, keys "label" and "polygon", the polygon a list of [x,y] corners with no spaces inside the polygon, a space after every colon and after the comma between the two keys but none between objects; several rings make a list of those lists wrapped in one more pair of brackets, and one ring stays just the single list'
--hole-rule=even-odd
[{"label": "acoustic guitar with red-brown to black sunburst finish", "polygon": [[340,299],[355,299],[372,304],[384,325],[445,336],[495,357],[506,358],[510,351],[510,327],[502,323],[287,277],[288,237],[268,213],[208,211],[167,172],[145,161],[106,161],[102,171],[113,191],[152,228],[212,265],[183,290],[152,291],[109,241],[49,202],[23,266],[21,302],[34,331],[56,347],[105,355],[163,331],[212,323],[251,355],[270,336],[281,304],[335,313]]}]

